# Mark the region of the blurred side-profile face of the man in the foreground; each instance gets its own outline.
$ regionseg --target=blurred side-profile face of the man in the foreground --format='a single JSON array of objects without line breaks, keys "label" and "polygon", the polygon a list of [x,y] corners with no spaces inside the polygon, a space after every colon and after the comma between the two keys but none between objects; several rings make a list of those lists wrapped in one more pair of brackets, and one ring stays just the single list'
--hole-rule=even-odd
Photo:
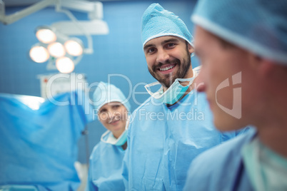
[{"label": "blurred side-profile face of the man in the foreground", "polygon": [[[249,125],[246,115],[251,112],[246,112],[246,105],[250,106],[250,99],[258,94],[250,88],[255,78],[248,52],[236,46],[224,46],[219,38],[199,26],[196,26],[194,47],[201,61],[201,72],[195,81],[197,90],[206,92],[216,127],[235,130]],[[234,91],[236,88],[240,91]],[[231,110],[242,116],[234,117]]]}]

